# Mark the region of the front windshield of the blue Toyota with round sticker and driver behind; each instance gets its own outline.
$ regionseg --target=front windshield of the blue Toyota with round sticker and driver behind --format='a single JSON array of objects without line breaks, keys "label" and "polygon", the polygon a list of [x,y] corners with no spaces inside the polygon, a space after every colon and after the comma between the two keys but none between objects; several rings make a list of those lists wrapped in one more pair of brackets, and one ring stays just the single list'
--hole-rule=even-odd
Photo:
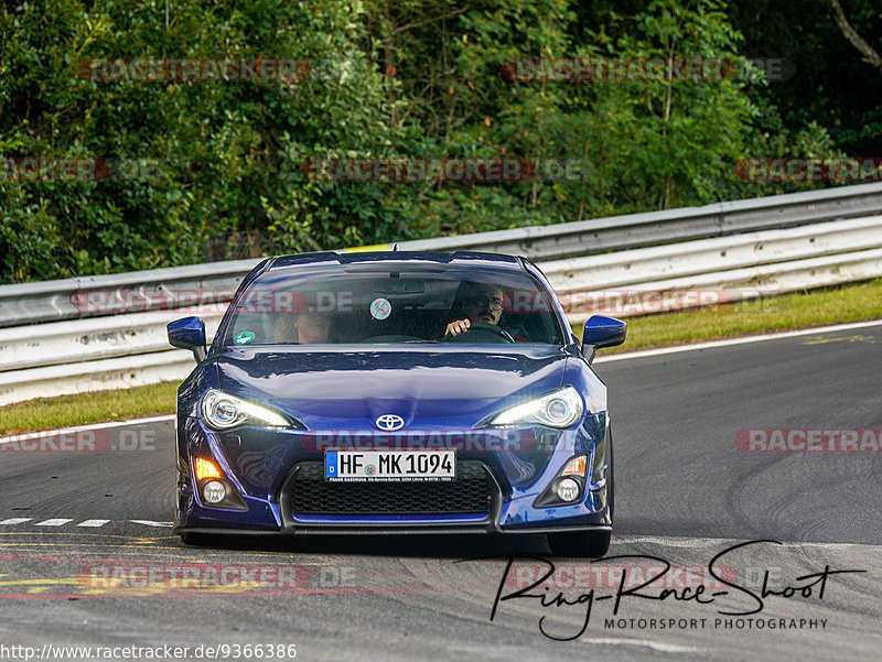
[{"label": "front windshield of the blue Toyota with round sticker and driver behind", "polygon": [[235,346],[562,344],[561,322],[542,285],[502,269],[278,268],[251,283],[228,316],[223,344]]}]

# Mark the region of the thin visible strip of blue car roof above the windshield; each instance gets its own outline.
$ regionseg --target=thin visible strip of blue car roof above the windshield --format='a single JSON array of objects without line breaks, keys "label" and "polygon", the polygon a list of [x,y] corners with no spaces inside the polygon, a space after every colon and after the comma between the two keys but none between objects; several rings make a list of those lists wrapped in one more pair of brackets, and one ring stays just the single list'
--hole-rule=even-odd
[{"label": "thin visible strip of blue car roof above the windshield", "polygon": [[335,252],[324,251],[301,253],[297,256],[280,256],[273,258],[267,270],[283,269],[294,265],[311,267],[334,264],[377,264],[387,267],[399,264],[450,264],[452,267],[475,267],[524,270],[524,262],[519,258],[501,253],[484,253],[476,251],[456,251],[454,253],[431,253],[417,251],[370,251],[370,252]]}]

